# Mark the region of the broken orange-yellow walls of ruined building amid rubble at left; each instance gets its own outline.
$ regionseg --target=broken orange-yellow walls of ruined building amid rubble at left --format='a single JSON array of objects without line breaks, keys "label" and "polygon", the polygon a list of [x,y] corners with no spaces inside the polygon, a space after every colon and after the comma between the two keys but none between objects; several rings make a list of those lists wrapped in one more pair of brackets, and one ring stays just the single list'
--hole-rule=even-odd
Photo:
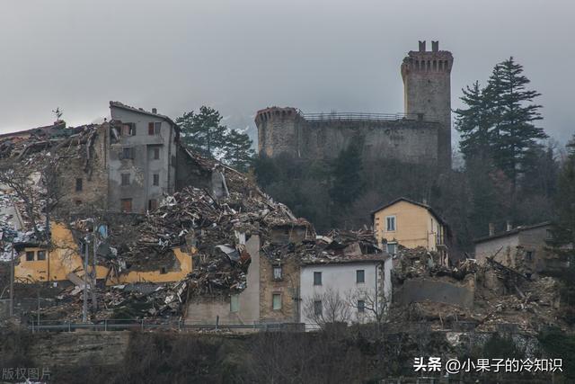
[{"label": "broken orange-yellow walls of ruined building amid rubble at left", "polygon": [[[18,262],[14,266],[14,278],[19,282],[47,282],[70,280],[69,273],[84,277],[83,257],[72,231],[65,224],[52,222],[52,245],[32,244],[16,245]],[[192,249],[191,254],[195,253]],[[111,272],[103,265],[96,265],[96,279],[105,279],[107,285],[130,282],[170,282],[180,281],[192,271],[191,255],[179,247],[173,248],[177,259],[176,268],[160,268],[157,271],[126,271],[119,274]],[[90,270],[90,267],[88,268]],[[74,277],[74,276],[73,276]]]}]

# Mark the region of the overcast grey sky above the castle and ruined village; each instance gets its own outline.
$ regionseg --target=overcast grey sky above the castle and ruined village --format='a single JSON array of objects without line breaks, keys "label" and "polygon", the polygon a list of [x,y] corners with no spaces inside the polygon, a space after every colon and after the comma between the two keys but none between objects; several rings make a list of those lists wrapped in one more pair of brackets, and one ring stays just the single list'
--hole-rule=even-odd
[{"label": "overcast grey sky above the castle and ruined village", "polygon": [[575,3],[564,0],[3,0],[0,131],[100,121],[117,100],[172,117],[217,108],[231,128],[267,106],[403,112],[418,40],[453,52],[452,106],[514,56],[541,125],[575,131]]}]

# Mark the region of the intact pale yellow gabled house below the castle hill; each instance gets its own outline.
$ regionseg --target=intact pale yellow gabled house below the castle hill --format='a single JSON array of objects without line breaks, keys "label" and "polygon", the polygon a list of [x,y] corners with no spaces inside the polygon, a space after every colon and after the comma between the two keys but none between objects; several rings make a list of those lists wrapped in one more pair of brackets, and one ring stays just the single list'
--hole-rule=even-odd
[{"label": "intact pale yellow gabled house below the castle hill", "polygon": [[371,212],[374,233],[380,246],[394,255],[397,245],[423,246],[437,251],[447,263],[447,223],[429,205],[399,198]]}]

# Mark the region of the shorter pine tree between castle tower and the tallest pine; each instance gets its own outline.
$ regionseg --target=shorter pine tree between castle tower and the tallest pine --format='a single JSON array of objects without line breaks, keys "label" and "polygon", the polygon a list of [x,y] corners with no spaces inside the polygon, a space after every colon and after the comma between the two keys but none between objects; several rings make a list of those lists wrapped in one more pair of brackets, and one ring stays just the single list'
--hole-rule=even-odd
[{"label": "shorter pine tree between castle tower and the tallest pine", "polygon": [[461,133],[459,148],[464,159],[478,158],[485,161],[491,158],[491,114],[489,98],[479,85],[473,83],[462,89],[461,101],[466,109],[457,109],[456,129]]}]

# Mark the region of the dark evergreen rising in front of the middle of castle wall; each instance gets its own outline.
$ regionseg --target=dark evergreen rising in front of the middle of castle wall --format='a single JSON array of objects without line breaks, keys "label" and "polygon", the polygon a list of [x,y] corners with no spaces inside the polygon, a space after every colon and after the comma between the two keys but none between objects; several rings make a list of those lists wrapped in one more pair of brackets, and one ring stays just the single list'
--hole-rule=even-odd
[{"label": "dark evergreen rising in front of the middle of castle wall", "polygon": [[332,200],[347,207],[358,199],[363,191],[363,163],[358,142],[352,142],[349,147],[341,150],[332,163]]}]

